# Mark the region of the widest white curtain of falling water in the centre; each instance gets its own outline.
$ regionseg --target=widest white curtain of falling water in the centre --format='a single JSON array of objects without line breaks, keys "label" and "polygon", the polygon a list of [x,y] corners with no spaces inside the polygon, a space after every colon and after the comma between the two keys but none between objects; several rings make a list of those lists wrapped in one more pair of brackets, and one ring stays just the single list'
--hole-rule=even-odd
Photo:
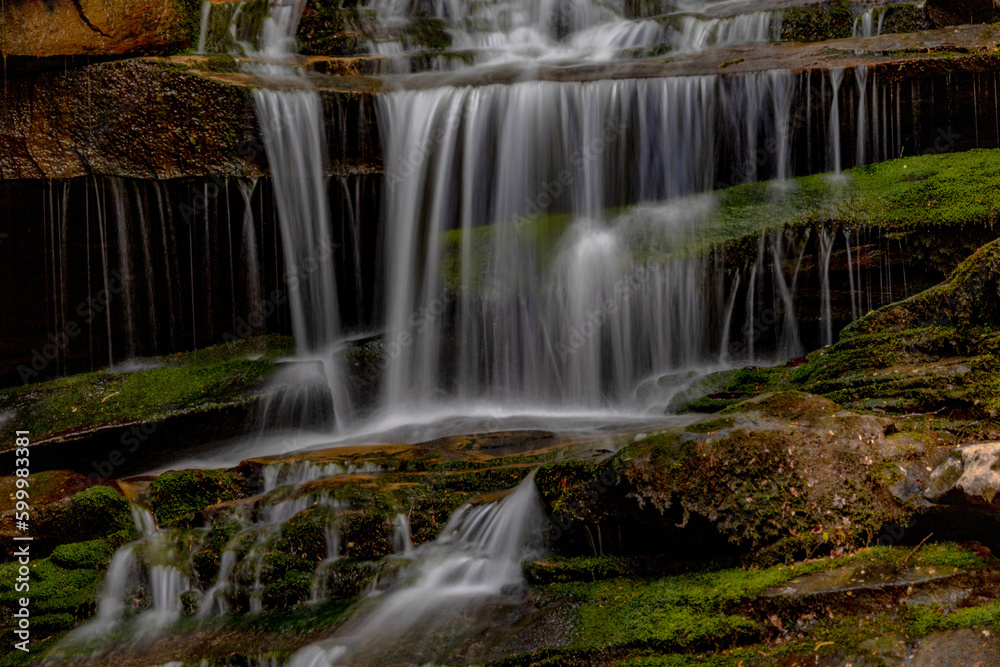
[{"label": "widest white curtain of falling water in the centre", "polygon": [[712,189],[717,152],[735,182],[788,175],[790,88],[772,73],[381,96],[383,409],[607,407],[650,374],[714,363],[704,261],[635,255],[694,233],[710,202],[607,210]]}]

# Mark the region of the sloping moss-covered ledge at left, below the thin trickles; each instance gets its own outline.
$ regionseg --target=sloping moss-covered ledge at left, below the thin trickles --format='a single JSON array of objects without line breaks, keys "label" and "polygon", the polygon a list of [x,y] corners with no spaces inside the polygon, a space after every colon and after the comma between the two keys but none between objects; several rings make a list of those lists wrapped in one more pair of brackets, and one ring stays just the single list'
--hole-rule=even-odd
[{"label": "sloping moss-covered ledge at left, below the thin trickles", "polygon": [[73,375],[0,391],[0,409],[16,418],[0,425],[4,449],[15,428],[32,442],[103,426],[146,422],[187,411],[249,401],[293,352],[291,339],[262,336],[126,362],[129,368]]}]

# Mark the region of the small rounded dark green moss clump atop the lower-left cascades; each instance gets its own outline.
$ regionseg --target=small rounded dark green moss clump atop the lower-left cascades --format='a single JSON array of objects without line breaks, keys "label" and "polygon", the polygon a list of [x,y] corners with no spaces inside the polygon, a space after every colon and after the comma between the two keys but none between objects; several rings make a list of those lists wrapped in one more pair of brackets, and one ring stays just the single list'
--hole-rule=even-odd
[{"label": "small rounded dark green moss clump atop the lower-left cascades", "polygon": [[246,495],[247,482],[235,473],[185,470],[160,475],[149,485],[149,503],[162,526],[184,525],[195,512]]}]

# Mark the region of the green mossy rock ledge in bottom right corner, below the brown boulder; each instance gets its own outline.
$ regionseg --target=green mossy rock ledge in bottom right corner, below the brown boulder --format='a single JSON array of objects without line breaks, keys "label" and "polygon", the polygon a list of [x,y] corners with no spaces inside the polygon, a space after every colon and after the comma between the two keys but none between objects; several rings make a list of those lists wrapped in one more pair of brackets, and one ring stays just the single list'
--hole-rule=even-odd
[{"label": "green mossy rock ledge in bottom right corner, below the brown boulder", "polygon": [[[564,574],[578,570],[583,576],[535,586],[543,603],[570,601],[569,611],[562,614],[570,627],[570,642],[496,664],[803,664],[788,660],[799,653],[820,659],[845,653],[872,655],[869,643],[884,636],[915,641],[939,628],[992,629],[997,625],[995,595],[959,610],[949,610],[947,603],[910,604],[907,599],[915,588],[938,590],[933,574],[927,583],[913,584],[907,590],[908,573],[914,569],[933,573],[958,568],[961,574],[955,579],[955,590],[982,586],[995,576],[995,562],[955,544],[927,545],[916,553],[909,548],[877,547],[840,558],[765,569],[669,577],[633,576],[628,574],[627,561],[604,558],[599,559],[603,567],[596,567],[596,560],[560,560],[556,565]],[[528,568],[551,565],[532,563]],[[878,572],[889,582],[898,576],[902,585],[876,583],[851,590],[855,585],[847,584],[797,599],[783,592],[792,582],[835,570],[856,575]],[[594,578],[597,571],[607,576]]]}]

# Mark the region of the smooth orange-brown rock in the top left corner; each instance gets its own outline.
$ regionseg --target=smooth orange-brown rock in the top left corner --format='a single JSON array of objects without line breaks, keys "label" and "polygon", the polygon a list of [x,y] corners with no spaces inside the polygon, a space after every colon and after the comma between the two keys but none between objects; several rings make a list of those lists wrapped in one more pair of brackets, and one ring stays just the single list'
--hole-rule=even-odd
[{"label": "smooth orange-brown rock in the top left corner", "polygon": [[0,53],[45,58],[186,46],[197,0],[13,0],[0,7]]}]

